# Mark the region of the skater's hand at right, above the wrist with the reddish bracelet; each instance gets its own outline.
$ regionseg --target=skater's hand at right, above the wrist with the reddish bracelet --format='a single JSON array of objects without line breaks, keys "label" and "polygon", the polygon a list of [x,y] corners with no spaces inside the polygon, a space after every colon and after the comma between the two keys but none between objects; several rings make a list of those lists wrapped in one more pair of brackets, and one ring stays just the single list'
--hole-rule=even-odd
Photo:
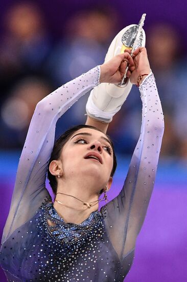
[{"label": "skater's hand at right, above the wrist with the reddish bracelet", "polygon": [[[126,52],[127,50],[125,50]],[[129,52],[129,51],[128,51]],[[130,82],[132,84],[137,84],[137,77],[143,74],[149,74],[151,72],[149,60],[147,56],[147,50],[145,47],[137,48],[132,55],[134,66],[130,67],[127,71],[127,77],[130,77]],[[146,76],[143,77],[143,79]]]}]

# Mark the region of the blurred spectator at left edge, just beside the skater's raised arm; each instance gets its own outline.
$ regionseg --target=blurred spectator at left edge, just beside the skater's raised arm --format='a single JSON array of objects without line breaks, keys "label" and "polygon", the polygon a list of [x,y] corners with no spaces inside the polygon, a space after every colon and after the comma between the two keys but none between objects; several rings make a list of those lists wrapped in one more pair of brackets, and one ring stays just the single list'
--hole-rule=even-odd
[{"label": "blurred spectator at left edge, just beside the skater's raised arm", "polygon": [[24,145],[36,104],[50,92],[50,85],[38,77],[22,79],[13,88],[1,109],[2,149],[21,148]]}]

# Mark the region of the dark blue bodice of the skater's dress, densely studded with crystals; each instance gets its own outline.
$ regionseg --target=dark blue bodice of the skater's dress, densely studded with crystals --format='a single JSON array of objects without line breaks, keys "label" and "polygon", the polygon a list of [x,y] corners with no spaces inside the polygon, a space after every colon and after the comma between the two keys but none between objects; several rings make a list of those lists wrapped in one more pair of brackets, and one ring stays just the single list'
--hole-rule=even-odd
[{"label": "dark blue bodice of the skater's dress, densely studded with crystals", "polygon": [[133,254],[119,260],[99,211],[80,225],[66,224],[46,201],[9,237],[1,262],[9,281],[123,281]]}]

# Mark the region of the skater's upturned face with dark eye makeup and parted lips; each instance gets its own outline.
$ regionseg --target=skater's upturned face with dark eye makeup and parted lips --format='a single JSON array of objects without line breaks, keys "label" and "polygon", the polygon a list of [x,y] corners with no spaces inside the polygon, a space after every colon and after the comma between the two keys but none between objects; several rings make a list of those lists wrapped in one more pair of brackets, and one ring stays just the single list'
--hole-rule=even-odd
[{"label": "skater's upturned face with dark eye makeup and parted lips", "polygon": [[77,130],[62,148],[59,159],[63,177],[90,177],[97,180],[99,189],[108,184],[113,151],[104,133],[91,128]]}]

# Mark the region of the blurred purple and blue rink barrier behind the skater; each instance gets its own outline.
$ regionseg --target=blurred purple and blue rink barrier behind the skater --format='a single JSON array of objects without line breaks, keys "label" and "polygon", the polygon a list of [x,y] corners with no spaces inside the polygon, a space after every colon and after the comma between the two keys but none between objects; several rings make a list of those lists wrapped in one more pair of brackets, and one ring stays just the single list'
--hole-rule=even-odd
[{"label": "blurred purple and blue rink barrier behind the skater", "polygon": [[[1,154],[0,234],[9,211],[18,159],[19,153]],[[118,157],[118,170],[109,192],[109,200],[123,186],[129,162],[130,159]],[[127,282],[187,281],[186,169],[187,164],[184,163],[166,165],[160,162],[147,216],[137,237],[134,262],[126,277]],[[6,281],[1,269],[0,281]]]}]

